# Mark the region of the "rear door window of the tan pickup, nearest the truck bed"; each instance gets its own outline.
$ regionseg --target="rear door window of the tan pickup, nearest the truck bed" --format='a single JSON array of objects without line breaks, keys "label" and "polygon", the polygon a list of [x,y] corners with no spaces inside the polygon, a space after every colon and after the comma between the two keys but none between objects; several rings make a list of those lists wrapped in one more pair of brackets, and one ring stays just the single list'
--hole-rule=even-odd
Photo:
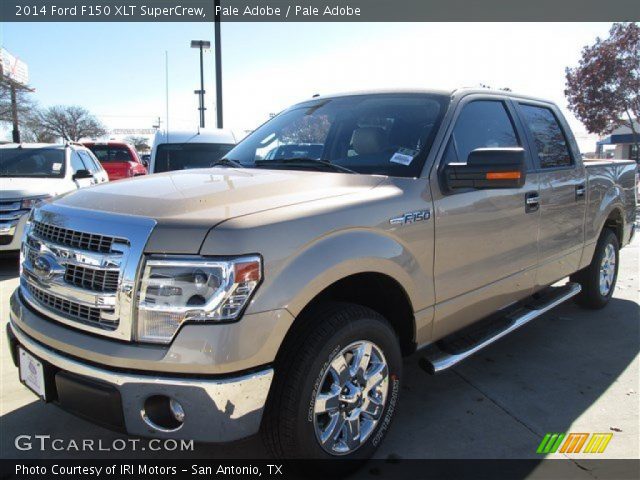
[{"label": "rear door window of the tan pickup, nearest the truck bed", "polygon": [[520,104],[538,150],[541,168],[568,167],[573,162],[567,138],[554,113],[545,107]]}]

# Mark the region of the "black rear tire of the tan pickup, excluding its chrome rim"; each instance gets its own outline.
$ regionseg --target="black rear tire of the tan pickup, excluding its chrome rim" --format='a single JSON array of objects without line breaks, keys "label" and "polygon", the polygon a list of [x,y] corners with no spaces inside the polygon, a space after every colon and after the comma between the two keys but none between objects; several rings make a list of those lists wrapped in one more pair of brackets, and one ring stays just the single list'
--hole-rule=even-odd
[{"label": "black rear tire of the tan pickup, excluding its chrome rim", "polygon": [[[604,257],[608,248],[613,248],[616,263],[613,269],[613,281],[610,282],[607,293],[603,294],[603,292],[600,291],[600,269],[603,266]],[[582,286],[582,291],[576,296],[576,302],[585,308],[593,310],[604,308],[607,303],[609,303],[616,288],[619,264],[620,244],[618,243],[618,237],[613,231],[605,229],[598,239],[591,264],[571,276],[572,281],[578,282]]]}]

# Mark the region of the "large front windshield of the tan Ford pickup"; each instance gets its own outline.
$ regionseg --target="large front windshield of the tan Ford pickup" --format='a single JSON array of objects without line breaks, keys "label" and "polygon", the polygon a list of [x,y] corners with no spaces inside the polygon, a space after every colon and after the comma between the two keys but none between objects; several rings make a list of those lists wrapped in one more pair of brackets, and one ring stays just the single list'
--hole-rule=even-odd
[{"label": "large front windshield of the tan Ford pickup", "polygon": [[247,167],[327,170],[303,161],[311,159],[357,173],[419,176],[448,101],[374,94],[306,102],[262,125],[226,158]]}]

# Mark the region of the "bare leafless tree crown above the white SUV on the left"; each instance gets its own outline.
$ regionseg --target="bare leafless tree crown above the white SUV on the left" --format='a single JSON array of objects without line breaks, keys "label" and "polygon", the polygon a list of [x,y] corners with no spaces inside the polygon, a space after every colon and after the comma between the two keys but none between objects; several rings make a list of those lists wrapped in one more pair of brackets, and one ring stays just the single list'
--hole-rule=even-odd
[{"label": "bare leafless tree crown above the white SUV on the left", "polygon": [[83,138],[106,135],[102,123],[87,109],[77,106],[56,105],[36,113],[42,133],[77,142]]}]

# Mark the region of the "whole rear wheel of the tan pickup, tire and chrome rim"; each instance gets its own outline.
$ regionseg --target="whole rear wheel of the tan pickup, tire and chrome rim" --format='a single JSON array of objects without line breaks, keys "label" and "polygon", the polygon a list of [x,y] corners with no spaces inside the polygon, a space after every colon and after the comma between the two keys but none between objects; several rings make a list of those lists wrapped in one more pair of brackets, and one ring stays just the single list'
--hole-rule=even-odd
[{"label": "whole rear wheel of the tan pickup, tire and chrome rim", "polygon": [[576,297],[580,305],[600,309],[609,303],[618,279],[619,250],[618,237],[611,230],[604,230],[591,264],[571,277],[582,286]]}]

